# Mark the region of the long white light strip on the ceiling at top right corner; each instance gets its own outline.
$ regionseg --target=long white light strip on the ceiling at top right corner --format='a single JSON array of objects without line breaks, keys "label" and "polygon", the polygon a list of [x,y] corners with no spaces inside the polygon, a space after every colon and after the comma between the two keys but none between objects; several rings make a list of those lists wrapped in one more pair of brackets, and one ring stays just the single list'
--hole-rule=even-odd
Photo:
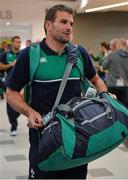
[{"label": "long white light strip on the ceiling at top right corner", "polygon": [[128,5],[128,2],[116,3],[116,4],[110,4],[107,6],[100,6],[100,7],[96,7],[96,8],[86,9],[85,12],[101,11],[101,10],[121,7],[121,6],[125,6],[125,5]]}]

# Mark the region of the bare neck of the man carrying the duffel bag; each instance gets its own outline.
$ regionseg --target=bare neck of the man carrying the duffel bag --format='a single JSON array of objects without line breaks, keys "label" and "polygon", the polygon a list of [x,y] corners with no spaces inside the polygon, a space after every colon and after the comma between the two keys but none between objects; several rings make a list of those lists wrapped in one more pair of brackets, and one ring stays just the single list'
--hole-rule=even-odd
[{"label": "bare neck of the man carrying the duffel bag", "polygon": [[63,43],[59,43],[53,39],[50,39],[50,38],[46,38],[45,40],[45,43],[47,44],[47,46],[52,49],[53,51],[55,51],[56,53],[58,53],[59,55],[62,54],[65,46],[66,46],[66,43],[63,44]]}]

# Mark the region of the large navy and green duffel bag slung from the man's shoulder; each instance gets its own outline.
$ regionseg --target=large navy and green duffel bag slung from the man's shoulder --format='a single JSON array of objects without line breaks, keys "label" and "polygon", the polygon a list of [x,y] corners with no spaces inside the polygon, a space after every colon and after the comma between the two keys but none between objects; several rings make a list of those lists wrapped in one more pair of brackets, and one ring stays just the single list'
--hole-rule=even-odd
[{"label": "large navy and green duffel bag slung from the man's shoulder", "polygon": [[93,161],[128,137],[128,109],[108,93],[60,104],[42,132],[39,168],[68,169]]}]

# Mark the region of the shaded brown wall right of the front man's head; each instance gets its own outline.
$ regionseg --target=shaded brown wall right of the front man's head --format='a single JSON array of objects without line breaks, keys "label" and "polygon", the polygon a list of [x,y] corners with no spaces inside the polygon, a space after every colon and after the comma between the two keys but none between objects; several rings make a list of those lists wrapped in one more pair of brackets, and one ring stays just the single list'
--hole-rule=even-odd
[{"label": "shaded brown wall right of the front man's head", "polygon": [[74,18],[73,42],[99,52],[101,41],[113,38],[128,39],[128,13],[103,12],[77,14]]}]

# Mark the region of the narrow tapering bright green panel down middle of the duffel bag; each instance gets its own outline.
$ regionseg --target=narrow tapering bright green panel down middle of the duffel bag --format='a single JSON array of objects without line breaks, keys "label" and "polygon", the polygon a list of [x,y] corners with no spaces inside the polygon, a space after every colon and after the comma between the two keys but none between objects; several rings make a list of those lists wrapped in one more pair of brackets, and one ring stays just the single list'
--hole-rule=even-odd
[{"label": "narrow tapering bright green panel down middle of the duffel bag", "polygon": [[56,117],[61,123],[65,154],[72,158],[76,144],[75,125],[70,119],[65,119],[58,113],[56,114]]}]

